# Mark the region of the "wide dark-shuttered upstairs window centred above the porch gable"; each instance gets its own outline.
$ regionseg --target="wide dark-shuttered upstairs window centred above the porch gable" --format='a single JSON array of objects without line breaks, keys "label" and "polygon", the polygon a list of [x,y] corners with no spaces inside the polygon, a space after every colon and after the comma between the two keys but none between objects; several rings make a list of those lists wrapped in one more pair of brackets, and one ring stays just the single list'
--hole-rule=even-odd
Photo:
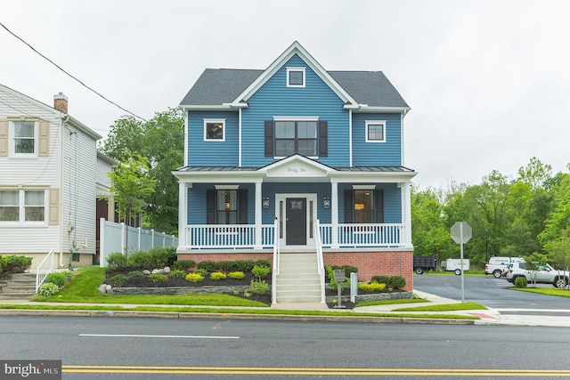
[{"label": "wide dark-shuttered upstairs window centred above the porch gable", "polygon": [[266,121],[265,157],[327,157],[327,128],[326,121],[318,120]]}]

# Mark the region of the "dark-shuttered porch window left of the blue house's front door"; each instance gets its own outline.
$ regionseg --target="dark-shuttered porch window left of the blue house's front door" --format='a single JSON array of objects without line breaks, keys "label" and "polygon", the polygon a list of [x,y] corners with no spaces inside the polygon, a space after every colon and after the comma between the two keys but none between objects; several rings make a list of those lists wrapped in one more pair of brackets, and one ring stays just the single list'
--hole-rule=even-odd
[{"label": "dark-shuttered porch window left of the blue house's front door", "polygon": [[208,189],[206,198],[208,224],[248,223],[248,190]]}]

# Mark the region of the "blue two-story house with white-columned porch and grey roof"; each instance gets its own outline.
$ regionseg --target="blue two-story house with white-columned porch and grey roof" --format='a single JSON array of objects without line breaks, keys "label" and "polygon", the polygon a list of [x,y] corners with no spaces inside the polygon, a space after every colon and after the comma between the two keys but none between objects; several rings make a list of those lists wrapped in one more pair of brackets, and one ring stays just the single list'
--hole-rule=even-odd
[{"label": "blue two-story house with white-columned porch and grey roof", "polygon": [[206,69],[180,107],[179,259],[279,273],[304,253],[411,289],[410,107],[382,72],[327,71],[295,42],[265,70]]}]

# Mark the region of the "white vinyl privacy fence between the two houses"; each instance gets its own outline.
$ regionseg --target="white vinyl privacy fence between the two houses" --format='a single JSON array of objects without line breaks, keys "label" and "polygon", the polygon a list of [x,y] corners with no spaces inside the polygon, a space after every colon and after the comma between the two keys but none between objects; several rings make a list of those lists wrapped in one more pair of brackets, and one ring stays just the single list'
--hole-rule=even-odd
[{"label": "white vinyl privacy fence between the two houses", "polygon": [[[125,223],[99,220],[99,251],[100,265],[107,266],[107,257],[115,252],[125,254],[128,252],[148,251],[158,247],[178,247],[178,238],[155,230],[146,230],[141,227],[128,227]],[[128,234],[128,239],[126,238]]]}]

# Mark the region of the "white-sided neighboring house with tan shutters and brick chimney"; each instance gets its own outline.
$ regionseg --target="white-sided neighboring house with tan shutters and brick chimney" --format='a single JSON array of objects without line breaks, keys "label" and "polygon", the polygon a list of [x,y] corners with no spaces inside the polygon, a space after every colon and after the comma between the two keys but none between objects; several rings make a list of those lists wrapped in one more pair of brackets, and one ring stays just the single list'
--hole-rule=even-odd
[{"label": "white-sided neighboring house with tan shutters and brick chimney", "polygon": [[[95,254],[97,146],[101,135],[67,113],[0,85],[0,255],[55,249],[58,265],[90,265]],[[70,260],[72,256],[72,260]]]}]

